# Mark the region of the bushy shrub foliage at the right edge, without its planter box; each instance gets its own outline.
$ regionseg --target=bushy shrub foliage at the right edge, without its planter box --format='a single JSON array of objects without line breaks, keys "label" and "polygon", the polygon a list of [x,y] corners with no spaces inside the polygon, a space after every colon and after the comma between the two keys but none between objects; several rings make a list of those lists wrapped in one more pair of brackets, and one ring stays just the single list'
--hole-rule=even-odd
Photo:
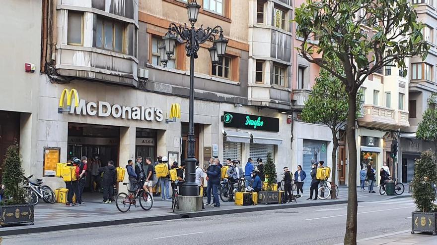
[{"label": "bushy shrub foliage at the right edge, without its planter box", "polygon": [[422,152],[416,160],[413,177],[413,199],[421,212],[437,212],[433,184],[437,183],[436,155],[432,150]]}]

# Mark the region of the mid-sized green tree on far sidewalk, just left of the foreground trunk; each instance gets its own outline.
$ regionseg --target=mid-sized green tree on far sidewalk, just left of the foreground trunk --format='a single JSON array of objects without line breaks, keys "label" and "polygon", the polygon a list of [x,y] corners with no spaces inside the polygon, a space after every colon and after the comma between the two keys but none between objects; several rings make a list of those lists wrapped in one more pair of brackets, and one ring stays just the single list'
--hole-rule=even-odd
[{"label": "mid-sized green tree on far sidewalk, just left of the foreground trunk", "polygon": [[[339,69],[340,70],[340,69]],[[357,105],[359,108],[360,105]],[[357,109],[356,113],[359,110]],[[334,185],[336,183],[336,162],[340,129],[346,125],[348,118],[348,94],[340,79],[332,76],[325,69],[320,70],[316,83],[312,87],[311,95],[305,101],[300,118],[309,123],[322,123],[331,129],[332,133],[332,194],[331,199],[337,199]]]}]

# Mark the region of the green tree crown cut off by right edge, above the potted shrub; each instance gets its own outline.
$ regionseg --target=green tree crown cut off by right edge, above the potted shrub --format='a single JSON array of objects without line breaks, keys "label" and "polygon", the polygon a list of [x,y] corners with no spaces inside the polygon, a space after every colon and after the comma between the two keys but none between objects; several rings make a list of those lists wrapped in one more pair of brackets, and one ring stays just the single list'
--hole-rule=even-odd
[{"label": "green tree crown cut off by right edge, above the potted shrub", "polygon": [[434,150],[437,154],[437,94],[434,93],[428,98],[428,108],[423,114],[422,121],[417,127],[416,137],[420,140],[434,142]]}]

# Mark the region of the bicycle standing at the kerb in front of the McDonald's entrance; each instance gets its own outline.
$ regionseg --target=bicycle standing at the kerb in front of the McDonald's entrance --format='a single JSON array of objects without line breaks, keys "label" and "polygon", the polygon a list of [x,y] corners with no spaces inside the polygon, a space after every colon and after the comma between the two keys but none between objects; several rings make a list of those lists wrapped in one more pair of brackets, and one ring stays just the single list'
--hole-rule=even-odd
[{"label": "bicycle standing at the kerb in front of the McDonald's entrance", "polygon": [[[152,208],[153,206],[153,198],[150,195],[150,193],[145,192],[143,190],[143,187],[141,185],[138,185],[140,182],[136,182],[135,185],[137,186],[136,190],[128,190],[129,195],[126,193],[119,193],[116,197],[115,200],[115,205],[117,206],[117,209],[122,212],[125,213],[127,211],[129,211],[129,209],[131,209],[131,205],[134,204],[135,207],[138,207],[137,204],[137,197],[139,199],[140,202],[140,206],[144,209],[144,210],[150,210],[150,208]],[[129,183],[123,183],[123,185],[128,185]],[[142,201],[143,199],[143,201]],[[144,202],[144,204],[143,204]],[[147,206],[149,205],[150,206]]]}]

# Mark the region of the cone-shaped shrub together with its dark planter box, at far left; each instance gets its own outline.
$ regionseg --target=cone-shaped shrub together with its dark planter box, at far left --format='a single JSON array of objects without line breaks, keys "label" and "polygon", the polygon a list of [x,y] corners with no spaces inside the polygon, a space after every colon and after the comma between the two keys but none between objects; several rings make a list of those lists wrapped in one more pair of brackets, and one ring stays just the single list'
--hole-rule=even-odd
[{"label": "cone-shaped shrub together with its dark planter box, at far left", "polygon": [[34,205],[26,204],[26,191],[22,187],[24,171],[18,145],[7,148],[2,164],[2,183],[5,187],[0,201],[0,226],[32,224]]}]

